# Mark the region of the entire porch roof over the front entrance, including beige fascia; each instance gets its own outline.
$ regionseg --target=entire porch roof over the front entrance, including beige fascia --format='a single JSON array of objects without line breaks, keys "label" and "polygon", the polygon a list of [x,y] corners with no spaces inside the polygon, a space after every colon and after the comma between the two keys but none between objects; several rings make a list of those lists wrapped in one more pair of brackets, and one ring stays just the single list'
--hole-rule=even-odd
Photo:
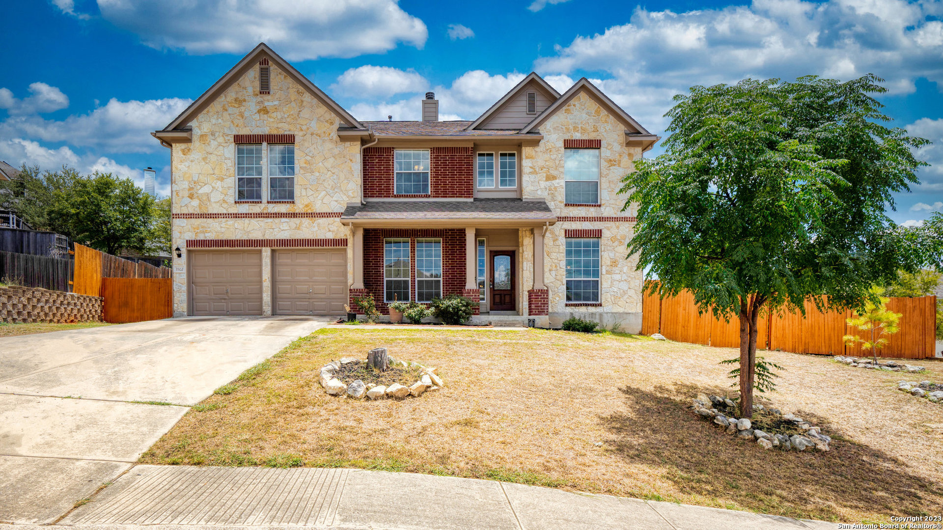
[{"label": "entire porch roof over the front entrance, including beige fascia", "polygon": [[501,224],[539,226],[556,223],[543,199],[474,199],[472,201],[371,201],[344,209],[341,223],[375,226],[422,224],[429,227]]}]

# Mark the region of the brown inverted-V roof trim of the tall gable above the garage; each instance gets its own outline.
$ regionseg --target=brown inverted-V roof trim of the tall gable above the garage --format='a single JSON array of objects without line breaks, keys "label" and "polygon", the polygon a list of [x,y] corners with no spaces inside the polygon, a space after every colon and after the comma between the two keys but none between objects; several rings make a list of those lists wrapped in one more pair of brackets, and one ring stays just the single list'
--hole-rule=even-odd
[{"label": "brown inverted-V roof trim of the tall gable above the garage", "polygon": [[258,64],[258,61],[262,58],[268,58],[269,61],[277,66],[279,70],[284,72],[286,75],[289,75],[292,80],[305,88],[306,91],[310,92],[315,98],[317,98],[325,107],[330,108],[341,122],[347,126],[362,128],[363,125],[356,120],[350,112],[340,107],[337,102],[330,98],[326,93],[321,89],[316,87],[314,83],[311,82],[305,75],[302,75],[295,67],[285,60],[284,58],[279,57],[278,54],[273,52],[265,42],[259,42],[255,49],[249,52],[244,58],[242,58],[235,66],[233,66],[229,72],[226,72],[223,77],[218,81],[213,83],[213,86],[203,92],[200,97],[196,99],[193,103],[190,104],[190,107],[185,108],[179,116],[174,118],[174,121],[164,127],[163,131],[172,131],[179,130],[184,128],[187,124],[190,124],[197,115],[200,114],[205,108],[207,108],[213,101],[216,100],[220,95],[223,94],[223,91],[228,89],[236,81],[240,79],[249,69],[253,68]]}]

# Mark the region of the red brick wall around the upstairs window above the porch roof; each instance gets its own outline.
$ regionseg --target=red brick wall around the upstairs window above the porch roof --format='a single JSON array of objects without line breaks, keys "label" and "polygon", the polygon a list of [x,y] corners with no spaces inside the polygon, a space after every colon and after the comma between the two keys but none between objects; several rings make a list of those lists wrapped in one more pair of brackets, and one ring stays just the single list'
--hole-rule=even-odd
[{"label": "red brick wall around the upstairs window above the porch roof", "polygon": [[363,150],[363,195],[365,198],[462,198],[474,195],[474,159],[471,147],[429,149],[429,194],[397,195],[394,187],[392,147]]}]

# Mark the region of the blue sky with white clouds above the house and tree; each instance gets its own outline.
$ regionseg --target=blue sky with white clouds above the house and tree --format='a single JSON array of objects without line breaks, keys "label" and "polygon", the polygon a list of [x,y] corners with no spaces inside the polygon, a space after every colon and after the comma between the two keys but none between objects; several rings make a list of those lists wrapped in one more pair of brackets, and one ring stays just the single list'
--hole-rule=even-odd
[{"label": "blue sky with white clouds above the house and tree", "polygon": [[[943,210],[943,2],[756,0],[4,1],[0,159],[69,164],[168,190],[162,128],[258,41],[362,120],[474,119],[523,75],[586,75],[653,132],[692,85],[816,74],[886,79],[894,124],[934,141],[898,223]],[[658,149],[653,151],[657,154]]]}]

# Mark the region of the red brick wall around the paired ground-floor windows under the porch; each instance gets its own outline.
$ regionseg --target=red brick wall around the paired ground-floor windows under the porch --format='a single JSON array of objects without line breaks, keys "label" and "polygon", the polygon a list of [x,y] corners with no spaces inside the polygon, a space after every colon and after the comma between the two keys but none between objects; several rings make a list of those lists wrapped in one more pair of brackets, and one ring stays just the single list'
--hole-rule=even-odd
[{"label": "red brick wall around the paired ground-floor windows under the porch", "polygon": [[[363,286],[373,294],[376,308],[383,314],[389,309],[383,301],[383,240],[409,239],[409,293],[416,297],[416,239],[442,240],[442,296],[465,294],[465,229],[366,228],[363,231]],[[352,291],[353,292],[353,291]],[[352,294],[353,296],[353,294]],[[474,291],[477,300],[478,291]],[[352,306],[353,307],[353,306]],[[360,312],[358,310],[358,312]],[[477,314],[477,313],[476,313]]]}]

